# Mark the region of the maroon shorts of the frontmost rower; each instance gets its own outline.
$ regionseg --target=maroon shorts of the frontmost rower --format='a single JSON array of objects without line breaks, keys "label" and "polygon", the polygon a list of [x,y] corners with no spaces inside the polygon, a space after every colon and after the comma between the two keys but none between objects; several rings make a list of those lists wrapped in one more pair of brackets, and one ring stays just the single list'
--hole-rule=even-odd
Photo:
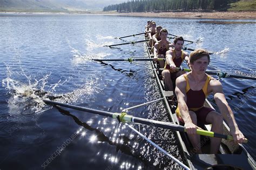
[{"label": "maroon shorts of the frontmost rower", "polygon": [[[190,109],[188,109],[188,110],[193,111],[193,110],[190,110]],[[211,124],[211,123],[207,123],[205,119],[206,119],[208,113],[210,113],[211,111],[215,111],[215,110],[210,108],[210,107],[202,107],[202,108],[199,108],[199,110],[193,111],[193,112],[195,112],[196,115],[197,115],[197,122],[198,123],[208,125],[208,124]],[[182,118],[178,117],[178,119],[179,119],[179,121],[184,123]]]}]

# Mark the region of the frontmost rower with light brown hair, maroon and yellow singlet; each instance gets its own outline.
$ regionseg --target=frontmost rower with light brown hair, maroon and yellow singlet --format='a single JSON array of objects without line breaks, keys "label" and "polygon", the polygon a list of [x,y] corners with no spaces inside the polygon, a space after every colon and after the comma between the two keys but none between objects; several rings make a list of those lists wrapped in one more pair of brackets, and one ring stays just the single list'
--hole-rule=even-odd
[{"label": "frontmost rower with light brown hair, maroon and yellow singlet", "polygon": [[[230,126],[230,133],[234,142],[245,141],[235,122],[234,114],[228,106],[223,87],[220,81],[205,73],[210,63],[210,55],[207,51],[197,49],[190,54],[191,72],[183,74],[176,80],[175,93],[178,99],[176,114],[178,119],[184,123],[186,132],[197,153],[202,153],[200,148],[200,136],[196,134],[199,123],[212,124],[211,131],[223,133],[223,118]],[[219,111],[205,107],[204,102],[208,94],[213,93],[215,103]],[[211,138],[211,153],[217,154],[221,139]]]}]

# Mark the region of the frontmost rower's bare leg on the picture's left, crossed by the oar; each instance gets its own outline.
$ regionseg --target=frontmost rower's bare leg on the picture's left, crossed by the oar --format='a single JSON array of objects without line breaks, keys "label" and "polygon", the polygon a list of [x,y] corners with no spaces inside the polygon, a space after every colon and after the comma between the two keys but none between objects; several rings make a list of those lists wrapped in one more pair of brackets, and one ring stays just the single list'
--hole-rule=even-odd
[{"label": "frontmost rower's bare leg on the picture's left, crossed by the oar", "polygon": [[[192,123],[197,125],[197,115],[193,111],[190,111],[190,118],[192,120]],[[198,134],[187,134],[188,138],[190,138],[190,141],[194,147],[193,152],[194,153],[203,153],[201,150],[201,145],[200,145],[200,135]]]}]

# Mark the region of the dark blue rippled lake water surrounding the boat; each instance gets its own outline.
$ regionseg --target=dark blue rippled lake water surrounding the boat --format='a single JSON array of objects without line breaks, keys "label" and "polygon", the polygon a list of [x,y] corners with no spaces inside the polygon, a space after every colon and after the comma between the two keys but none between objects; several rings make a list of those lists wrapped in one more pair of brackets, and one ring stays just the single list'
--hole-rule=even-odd
[{"label": "dark blue rippled lake water surrounding the boat", "polygon": [[[98,15],[0,15],[0,169],[176,169],[172,160],[118,121],[47,106],[35,90],[63,103],[121,112],[160,98],[153,72],[92,58],[146,55],[144,44],[110,49],[114,37],[144,31],[149,18]],[[152,18],[174,35],[218,51],[209,70],[255,76],[255,23],[214,24],[211,19]],[[225,20],[226,21],[226,20]],[[227,20],[231,23],[232,20]],[[247,20],[246,22],[255,22]],[[142,40],[142,36],[126,38]],[[149,63],[143,63],[149,66]],[[256,158],[253,80],[221,79],[246,149]],[[43,97],[45,98],[45,97]],[[210,96],[213,103],[213,98]],[[131,110],[137,117],[169,121],[161,102]],[[138,125],[134,125],[137,130]],[[176,133],[140,126],[140,132],[182,161]]]}]

